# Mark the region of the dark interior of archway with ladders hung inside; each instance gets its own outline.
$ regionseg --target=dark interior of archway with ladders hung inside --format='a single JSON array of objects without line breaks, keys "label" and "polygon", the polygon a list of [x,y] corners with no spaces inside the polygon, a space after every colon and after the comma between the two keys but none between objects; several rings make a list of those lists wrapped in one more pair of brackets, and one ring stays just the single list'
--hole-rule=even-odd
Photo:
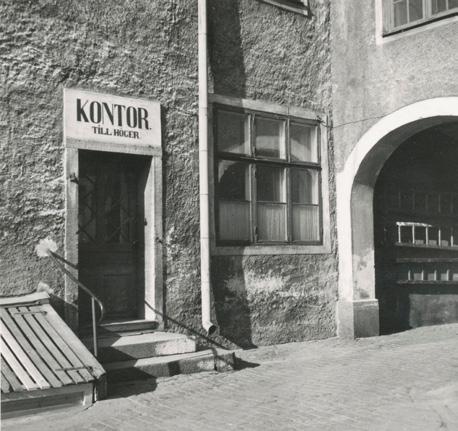
[{"label": "dark interior of archway with ladders hung inside", "polygon": [[418,133],[374,191],[381,333],[458,321],[458,123]]}]

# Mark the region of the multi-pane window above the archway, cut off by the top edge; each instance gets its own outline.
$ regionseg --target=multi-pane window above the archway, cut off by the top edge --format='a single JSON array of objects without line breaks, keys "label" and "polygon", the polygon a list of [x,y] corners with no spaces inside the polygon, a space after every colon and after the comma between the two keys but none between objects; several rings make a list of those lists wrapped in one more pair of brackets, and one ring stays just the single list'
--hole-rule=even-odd
[{"label": "multi-pane window above the archway, cut off by the top edge", "polygon": [[383,0],[384,32],[403,30],[458,12],[458,0]]}]

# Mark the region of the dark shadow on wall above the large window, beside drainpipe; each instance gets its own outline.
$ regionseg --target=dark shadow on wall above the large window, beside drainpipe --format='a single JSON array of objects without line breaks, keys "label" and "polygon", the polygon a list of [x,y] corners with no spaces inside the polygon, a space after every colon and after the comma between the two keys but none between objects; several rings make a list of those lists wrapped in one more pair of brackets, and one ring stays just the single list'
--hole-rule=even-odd
[{"label": "dark shadow on wall above the large window, beside drainpipe", "polygon": [[239,0],[210,0],[208,45],[213,92],[245,97]]}]

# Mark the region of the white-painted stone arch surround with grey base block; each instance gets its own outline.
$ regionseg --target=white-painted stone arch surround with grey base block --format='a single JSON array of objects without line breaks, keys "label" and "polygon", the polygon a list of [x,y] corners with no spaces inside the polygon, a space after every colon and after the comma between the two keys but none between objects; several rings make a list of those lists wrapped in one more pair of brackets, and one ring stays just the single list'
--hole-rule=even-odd
[{"label": "white-painted stone arch surround with grey base block", "polygon": [[359,139],[336,174],[341,337],[379,334],[375,297],[374,186],[386,160],[410,136],[458,119],[458,97],[423,100],[386,115]]}]

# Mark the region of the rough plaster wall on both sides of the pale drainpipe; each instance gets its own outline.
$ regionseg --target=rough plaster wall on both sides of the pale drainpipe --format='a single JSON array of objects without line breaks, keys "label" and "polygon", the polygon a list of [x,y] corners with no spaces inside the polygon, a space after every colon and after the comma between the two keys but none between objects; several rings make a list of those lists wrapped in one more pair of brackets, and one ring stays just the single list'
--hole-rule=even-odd
[{"label": "rough plaster wall on both sides of the pale drainpipe", "polygon": [[[209,3],[216,93],[330,109],[327,0],[311,2],[311,18],[253,0]],[[199,329],[197,2],[10,0],[0,15],[0,293],[30,292],[42,280],[62,295],[62,279],[33,247],[48,235],[63,247],[63,87],[140,96],[163,107],[166,313]],[[215,258],[221,341],[334,335],[334,240],[332,250]]]}]

